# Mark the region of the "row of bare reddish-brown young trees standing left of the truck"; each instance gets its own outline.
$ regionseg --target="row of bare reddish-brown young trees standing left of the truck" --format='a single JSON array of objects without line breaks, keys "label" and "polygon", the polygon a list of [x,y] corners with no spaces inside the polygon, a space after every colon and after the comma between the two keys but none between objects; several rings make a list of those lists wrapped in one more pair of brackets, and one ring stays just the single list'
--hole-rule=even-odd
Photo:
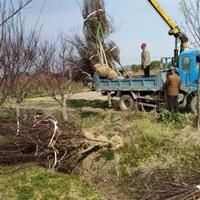
[{"label": "row of bare reddish-brown young trees standing left of the truck", "polygon": [[62,106],[67,120],[66,102],[74,77],[81,70],[80,59],[67,36],[60,35],[59,41],[52,43],[42,41],[36,29],[26,31],[21,10],[31,2],[20,0],[15,5],[5,0],[1,5],[0,106],[10,99],[14,101],[18,127],[21,103],[33,82]]}]

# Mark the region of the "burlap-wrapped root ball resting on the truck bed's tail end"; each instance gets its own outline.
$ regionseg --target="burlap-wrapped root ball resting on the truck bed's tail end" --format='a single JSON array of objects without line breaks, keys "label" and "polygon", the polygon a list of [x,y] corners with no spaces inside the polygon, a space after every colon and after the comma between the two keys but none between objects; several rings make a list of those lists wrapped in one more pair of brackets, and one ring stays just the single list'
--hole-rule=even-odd
[{"label": "burlap-wrapped root ball resting on the truck bed's tail end", "polygon": [[108,79],[118,78],[117,72],[106,64],[98,63],[94,65],[94,69],[102,78],[108,78]]}]

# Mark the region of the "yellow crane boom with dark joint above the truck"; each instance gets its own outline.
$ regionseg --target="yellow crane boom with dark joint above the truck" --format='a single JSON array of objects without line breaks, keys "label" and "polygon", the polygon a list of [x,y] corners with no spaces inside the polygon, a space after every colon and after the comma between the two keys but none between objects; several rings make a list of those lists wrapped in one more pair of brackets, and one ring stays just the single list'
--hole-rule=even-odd
[{"label": "yellow crane boom with dark joint above the truck", "polygon": [[163,10],[157,0],[148,0],[148,2],[152,5],[152,7],[156,10],[156,12],[160,15],[160,17],[168,24],[170,27],[169,35],[173,35],[175,37],[175,49],[174,49],[174,59],[175,66],[177,66],[178,62],[178,40],[181,42],[180,52],[182,52],[188,43],[187,36],[181,31],[179,26],[168,16],[168,14]]}]

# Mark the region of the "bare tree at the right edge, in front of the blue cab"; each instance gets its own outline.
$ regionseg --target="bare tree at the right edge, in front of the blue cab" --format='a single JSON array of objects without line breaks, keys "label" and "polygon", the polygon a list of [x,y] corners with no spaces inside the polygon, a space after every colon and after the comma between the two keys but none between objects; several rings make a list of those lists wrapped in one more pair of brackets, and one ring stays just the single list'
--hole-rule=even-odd
[{"label": "bare tree at the right edge, in front of the blue cab", "polygon": [[[200,0],[182,0],[181,10],[185,17],[184,28],[191,36],[190,42],[195,49],[200,48]],[[197,129],[200,130],[200,64],[197,84]]]}]

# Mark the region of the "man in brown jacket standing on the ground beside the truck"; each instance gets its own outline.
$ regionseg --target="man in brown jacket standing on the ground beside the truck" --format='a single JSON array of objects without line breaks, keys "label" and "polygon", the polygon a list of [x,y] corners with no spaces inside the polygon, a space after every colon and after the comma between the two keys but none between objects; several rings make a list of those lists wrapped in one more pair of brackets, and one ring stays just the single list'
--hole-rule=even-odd
[{"label": "man in brown jacket standing on the ground beside the truck", "polygon": [[178,112],[178,95],[181,86],[181,79],[178,76],[177,68],[171,70],[170,74],[167,74],[167,80],[165,82],[166,94],[167,94],[167,107],[169,111]]}]

